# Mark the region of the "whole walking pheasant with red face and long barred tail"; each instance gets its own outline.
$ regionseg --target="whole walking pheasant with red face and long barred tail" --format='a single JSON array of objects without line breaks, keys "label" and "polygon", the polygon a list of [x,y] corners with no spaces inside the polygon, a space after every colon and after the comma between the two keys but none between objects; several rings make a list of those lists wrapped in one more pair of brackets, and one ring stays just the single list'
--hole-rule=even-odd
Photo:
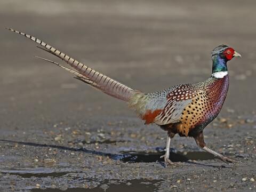
[{"label": "whole walking pheasant with red face and long barred tail", "polygon": [[103,75],[36,37],[11,28],[9,30],[31,39],[40,45],[39,48],[57,56],[74,69],[45,58],[37,58],[54,63],[95,89],[126,101],[129,107],[145,121],[145,124],[157,124],[167,131],[165,154],[161,156],[164,158],[165,165],[173,164],[169,159],[170,142],[177,133],[181,137],[193,137],[200,148],[219,157],[222,161],[236,162],[206,147],[203,135],[204,127],[220,113],[228,92],[227,62],[234,57],[241,57],[241,54],[233,48],[219,45],[212,51],[212,75],[206,81],[180,84],[162,91],[144,93]]}]

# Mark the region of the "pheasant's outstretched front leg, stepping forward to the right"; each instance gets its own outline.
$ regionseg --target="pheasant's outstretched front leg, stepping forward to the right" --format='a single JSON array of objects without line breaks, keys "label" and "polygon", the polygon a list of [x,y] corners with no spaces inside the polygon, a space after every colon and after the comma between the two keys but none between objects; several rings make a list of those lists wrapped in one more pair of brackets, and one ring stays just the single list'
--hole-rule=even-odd
[{"label": "pheasant's outstretched front leg, stepping forward to the right", "polygon": [[203,150],[207,151],[210,154],[213,154],[214,156],[219,157],[222,161],[224,162],[230,162],[230,163],[237,163],[238,161],[235,161],[233,159],[230,159],[224,155],[221,155],[220,153],[206,147],[205,142],[204,142],[204,135],[203,132],[200,132],[196,137],[194,137],[196,140],[196,143],[199,147],[201,147]]}]

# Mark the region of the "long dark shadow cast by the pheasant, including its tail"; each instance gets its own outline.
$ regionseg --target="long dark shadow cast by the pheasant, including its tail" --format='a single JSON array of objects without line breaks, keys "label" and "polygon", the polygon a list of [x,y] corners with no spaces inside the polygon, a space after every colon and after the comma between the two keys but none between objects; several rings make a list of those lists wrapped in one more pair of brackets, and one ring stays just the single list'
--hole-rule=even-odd
[{"label": "long dark shadow cast by the pheasant, including its tail", "polygon": [[[34,142],[12,141],[12,140],[5,140],[5,139],[0,139],[0,142],[18,143],[20,145],[26,145],[26,146],[47,147],[47,148],[54,148],[54,149],[68,150],[68,151],[80,151],[80,152],[83,152],[86,154],[107,156],[114,160],[119,160],[119,161],[129,162],[129,163],[158,162],[163,167],[166,166],[165,163],[159,159],[160,155],[162,155],[159,152],[156,154],[147,154],[147,153],[130,154],[129,151],[126,151],[126,152],[123,152],[122,154],[113,154],[113,153],[104,153],[102,151],[97,151],[97,150],[90,150],[90,149],[86,149],[86,148],[73,148],[73,147],[66,147],[66,146],[59,146],[59,145],[34,143]],[[189,159],[186,156],[177,154],[177,153],[173,153],[173,152],[170,153],[170,158],[171,158],[171,161],[173,161],[173,162],[180,162],[180,163],[177,163],[178,166],[179,166],[179,164],[182,165],[182,163],[188,163],[191,165],[193,164],[193,165],[207,166],[207,167],[232,168],[232,167],[226,166],[226,165],[209,165],[209,164],[204,164],[204,163],[192,162],[192,161],[189,161]]]}]

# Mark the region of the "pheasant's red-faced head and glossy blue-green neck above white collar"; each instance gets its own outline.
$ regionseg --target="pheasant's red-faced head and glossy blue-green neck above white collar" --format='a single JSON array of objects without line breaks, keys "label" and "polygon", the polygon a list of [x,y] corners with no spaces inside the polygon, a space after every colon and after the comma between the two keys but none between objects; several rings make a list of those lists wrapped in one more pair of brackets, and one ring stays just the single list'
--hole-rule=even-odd
[{"label": "pheasant's red-faced head and glossy blue-green neck above white collar", "polygon": [[219,45],[212,51],[212,73],[227,71],[227,62],[234,57],[241,57],[241,54],[227,45]]}]

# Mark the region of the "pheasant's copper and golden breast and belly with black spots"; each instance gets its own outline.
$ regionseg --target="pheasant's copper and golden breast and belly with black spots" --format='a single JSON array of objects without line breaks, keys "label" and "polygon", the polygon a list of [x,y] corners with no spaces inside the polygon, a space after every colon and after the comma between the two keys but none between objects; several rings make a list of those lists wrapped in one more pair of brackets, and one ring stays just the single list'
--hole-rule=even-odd
[{"label": "pheasant's copper and golden breast and belly with black spots", "polygon": [[198,91],[192,101],[183,109],[179,135],[195,137],[219,114],[228,91],[228,76],[212,79],[205,89]]}]

